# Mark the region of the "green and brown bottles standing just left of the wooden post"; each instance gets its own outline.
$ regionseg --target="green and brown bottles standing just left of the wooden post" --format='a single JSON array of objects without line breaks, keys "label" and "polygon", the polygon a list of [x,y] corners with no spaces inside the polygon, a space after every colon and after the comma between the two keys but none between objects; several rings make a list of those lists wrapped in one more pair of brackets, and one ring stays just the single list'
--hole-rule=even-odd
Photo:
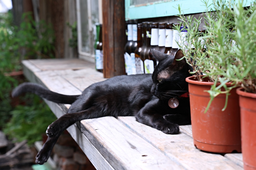
[{"label": "green and brown bottles standing just left of the wooden post", "polygon": [[95,48],[95,65],[96,70],[103,72],[103,50],[102,50],[102,24],[96,25]]}]

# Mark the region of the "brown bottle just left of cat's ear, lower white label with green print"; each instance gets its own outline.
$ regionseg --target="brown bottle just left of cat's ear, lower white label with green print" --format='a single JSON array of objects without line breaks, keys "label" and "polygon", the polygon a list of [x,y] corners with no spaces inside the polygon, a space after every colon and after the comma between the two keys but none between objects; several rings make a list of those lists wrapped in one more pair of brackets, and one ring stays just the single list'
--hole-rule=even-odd
[{"label": "brown bottle just left of cat's ear, lower white label with green print", "polygon": [[147,23],[147,31],[146,31],[146,44],[147,48],[144,54],[144,70],[145,73],[153,73],[154,66],[156,65],[156,61],[153,60],[150,56],[150,50],[151,50],[151,22]]}]

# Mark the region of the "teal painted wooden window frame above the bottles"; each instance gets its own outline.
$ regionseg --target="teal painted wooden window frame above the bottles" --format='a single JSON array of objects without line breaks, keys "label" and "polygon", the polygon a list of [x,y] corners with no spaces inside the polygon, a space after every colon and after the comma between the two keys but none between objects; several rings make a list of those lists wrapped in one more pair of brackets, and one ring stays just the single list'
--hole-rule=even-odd
[{"label": "teal painted wooden window frame above the bottles", "polygon": [[[235,2],[238,1],[235,0]],[[184,14],[195,14],[206,11],[205,4],[201,0],[167,0],[140,5],[130,5],[130,2],[130,0],[125,0],[125,20],[178,15],[178,5],[181,5]],[[211,3],[212,0],[209,0],[208,5]],[[244,1],[244,6],[249,6],[250,3],[251,1],[249,0]]]}]

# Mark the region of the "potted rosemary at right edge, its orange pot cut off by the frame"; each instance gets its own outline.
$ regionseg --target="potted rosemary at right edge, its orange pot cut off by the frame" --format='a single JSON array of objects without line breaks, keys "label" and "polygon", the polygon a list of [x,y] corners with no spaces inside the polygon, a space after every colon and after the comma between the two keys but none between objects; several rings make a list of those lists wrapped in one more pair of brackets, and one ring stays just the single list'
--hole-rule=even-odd
[{"label": "potted rosemary at right edge, its orange pot cut off by the frame", "polygon": [[[242,3],[230,10],[234,32],[232,67],[226,77],[241,86],[239,95],[241,114],[241,137],[244,169],[256,169],[256,7],[244,8]],[[234,43],[235,42],[235,43]],[[239,84],[240,83],[240,84]]]}]

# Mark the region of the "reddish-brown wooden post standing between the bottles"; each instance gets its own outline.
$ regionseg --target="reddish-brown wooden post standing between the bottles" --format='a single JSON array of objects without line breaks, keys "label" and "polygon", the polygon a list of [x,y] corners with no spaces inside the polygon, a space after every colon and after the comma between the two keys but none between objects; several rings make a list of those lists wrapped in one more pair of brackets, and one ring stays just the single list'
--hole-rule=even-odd
[{"label": "reddish-brown wooden post standing between the bottles", "polygon": [[103,74],[105,78],[125,74],[124,0],[102,1]]}]

